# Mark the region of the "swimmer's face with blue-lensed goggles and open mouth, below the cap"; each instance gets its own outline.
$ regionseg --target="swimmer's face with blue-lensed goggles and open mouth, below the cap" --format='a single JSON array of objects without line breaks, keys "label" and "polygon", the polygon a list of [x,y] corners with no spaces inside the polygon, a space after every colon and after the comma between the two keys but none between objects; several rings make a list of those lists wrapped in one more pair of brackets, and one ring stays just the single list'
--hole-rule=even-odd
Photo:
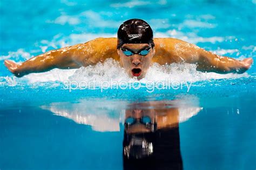
[{"label": "swimmer's face with blue-lensed goggles and open mouth, below the cap", "polygon": [[120,56],[120,64],[124,67],[127,74],[130,77],[135,76],[140,80],[146,75],[155,50],[149,44],[124,44],[117,50],[117,53]]}]

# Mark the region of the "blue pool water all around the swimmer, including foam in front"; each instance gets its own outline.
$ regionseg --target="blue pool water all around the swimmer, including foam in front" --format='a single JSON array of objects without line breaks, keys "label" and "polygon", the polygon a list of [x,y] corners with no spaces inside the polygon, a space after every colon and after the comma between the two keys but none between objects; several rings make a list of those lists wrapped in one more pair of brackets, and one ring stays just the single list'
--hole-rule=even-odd
[{"label": "blue pool water all around the swimmer, including foam in front", "polygon": [[[241,75],[200,73],[186,64],[153,65],[139,90],[100,85],[69,90],[65,81],[129,78],[112,60],[20,79],[3,64],[116,37],[118,26],[130,18],[146,20],[154,37],[255,60],[255,13],[254,0],[1,1],[0,169],[255,169],[255,65]],[[145,87],[147,80],[164,81],[161,87],[166,87],[166,78],[192,82],[190,90],[149,92]],[[124,154],[129,141],[140,143],[141,136],[130,135],[124,125],[129,112],[138,110],[158,118],[156,132],[141,134],[153,144],[153,158],[146,161]],[[171,124],[161,128],[161,118]],[[136,149],[130,152],[138,156]]]}]

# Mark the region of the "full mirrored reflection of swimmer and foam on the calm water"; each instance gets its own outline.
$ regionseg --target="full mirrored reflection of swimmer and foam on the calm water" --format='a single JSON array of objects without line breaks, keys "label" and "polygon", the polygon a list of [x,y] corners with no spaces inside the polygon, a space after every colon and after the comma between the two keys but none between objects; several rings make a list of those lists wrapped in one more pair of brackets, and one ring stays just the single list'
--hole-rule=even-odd
[{"label": "full mirrored reflection of swimmer and foam on the calm water", "polygon": [[182,169],[179,123],[197,115],[202,108],[196,107],[196,103],[188,107],[178,100],[97,102],[60,102],[41,108],[90,125],[94,131],[119,131],[120,122],[124,122],[124,169]]}]

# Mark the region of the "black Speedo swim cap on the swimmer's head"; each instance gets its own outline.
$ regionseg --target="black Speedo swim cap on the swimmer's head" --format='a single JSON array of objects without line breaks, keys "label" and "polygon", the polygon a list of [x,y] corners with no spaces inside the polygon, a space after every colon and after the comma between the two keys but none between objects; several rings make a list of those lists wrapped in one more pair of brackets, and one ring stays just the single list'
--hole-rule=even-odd
[{"label": "black Speedo swim cap on the swimmer's head", "polygon": [[123,44],[151,44],[154,47],[153,31],[142,19],[129,19],[117,31],[117,48]]}]

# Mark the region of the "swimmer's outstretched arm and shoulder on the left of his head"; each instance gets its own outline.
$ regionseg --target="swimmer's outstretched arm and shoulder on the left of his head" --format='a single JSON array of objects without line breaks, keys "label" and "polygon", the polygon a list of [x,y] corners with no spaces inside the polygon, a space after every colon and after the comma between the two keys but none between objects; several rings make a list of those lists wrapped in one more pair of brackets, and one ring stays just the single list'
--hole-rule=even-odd
[{"label": "swimmer's outstretched arm and shoulder on the left of his head", "polygon": [[5,60],[5,66],[17,77],[30,73],[47,72],[53,68],[72,69],[95,65],[107,57],[117,58],[115,38],[97,38],[86,42],[46,52],[17,64]]}]

